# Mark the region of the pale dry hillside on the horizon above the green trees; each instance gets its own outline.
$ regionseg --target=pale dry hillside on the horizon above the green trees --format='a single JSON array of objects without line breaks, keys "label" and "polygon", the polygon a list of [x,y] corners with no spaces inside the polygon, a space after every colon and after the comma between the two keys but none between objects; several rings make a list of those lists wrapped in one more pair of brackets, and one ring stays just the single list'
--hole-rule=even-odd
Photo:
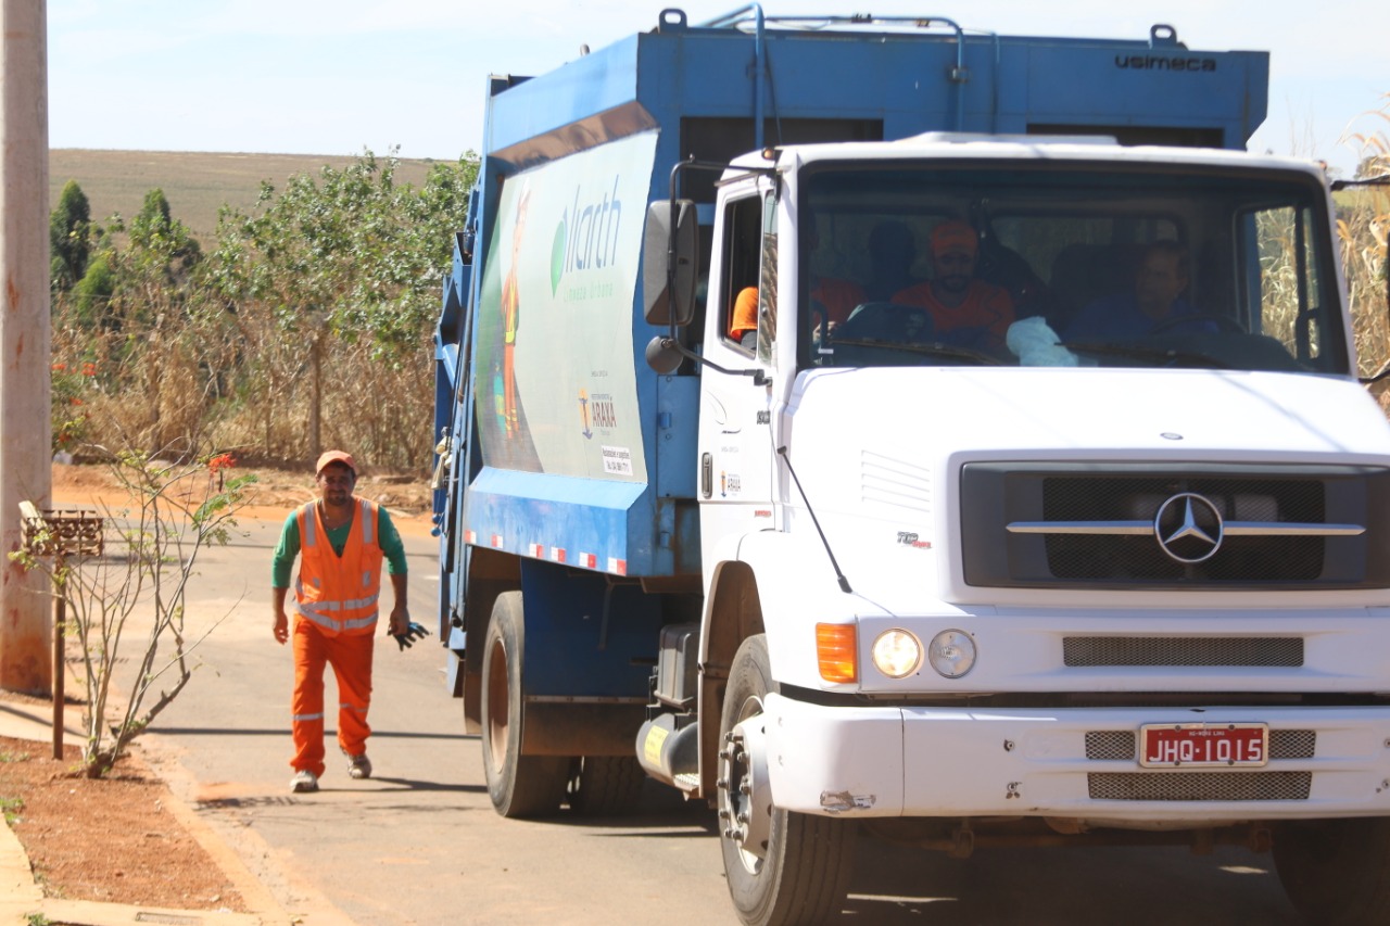
[{"label": "pale dry hillside on the horizon above the green trees", "polygon": [[[381,153],[377,157],[382,157]],[[58,202],[64,184],[75,179],[92,204],[92,218],[104,222],[113,213],[124,218],[140,210],[145,193],[164,190],[174,217],[204,245],[217,229],[224,204],[249,210],[256,204],[261,181],[277,189],[295,174],[317,174],[321,167],[352,164],[354,157],[327,154],[207,154],[181,152],[99,152],[51,149],[49,152],[49,209]],[[432,161],[402,160],[396,179],[418,186]]]}]

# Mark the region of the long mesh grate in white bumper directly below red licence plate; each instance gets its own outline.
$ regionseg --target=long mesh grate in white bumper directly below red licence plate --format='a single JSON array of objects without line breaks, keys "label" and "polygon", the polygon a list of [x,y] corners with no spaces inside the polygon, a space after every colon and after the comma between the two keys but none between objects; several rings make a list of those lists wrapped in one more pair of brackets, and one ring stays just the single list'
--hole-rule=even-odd
[{"label": "long mesh grate in white bumper directly below red licence plate", "polygon": [[1097,772],[1093,801],[1307,801],[1312,772]]}]

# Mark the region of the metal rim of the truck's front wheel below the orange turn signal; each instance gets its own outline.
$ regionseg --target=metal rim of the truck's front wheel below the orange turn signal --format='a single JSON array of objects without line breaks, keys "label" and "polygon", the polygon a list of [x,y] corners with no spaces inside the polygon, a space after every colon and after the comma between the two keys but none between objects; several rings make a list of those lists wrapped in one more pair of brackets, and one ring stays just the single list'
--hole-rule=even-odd
[{"label": "metal rim of the truck's front wheel below the orange turn signal", "polygon": [[719,754],[720,823],[724,838],[733,843],[749,875],[762,870],[771,838],[771,788],[762,720],[762,699],[748,698],[738,723],[724,734],[724,748]]}]

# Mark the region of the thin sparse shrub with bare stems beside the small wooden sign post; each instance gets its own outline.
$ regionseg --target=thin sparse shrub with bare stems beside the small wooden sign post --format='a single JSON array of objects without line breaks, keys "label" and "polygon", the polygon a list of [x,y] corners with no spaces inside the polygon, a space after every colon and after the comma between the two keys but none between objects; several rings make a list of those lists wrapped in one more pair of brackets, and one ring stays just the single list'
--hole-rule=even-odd
[{"label": "thin sparse shrub with bare stems beside the small wooden sign post", "polygon": [[[183,602],[199,553],[210,544],[228,542],[235,514],[256,481],[229,474],[235,466],[231,453],[185,463],[117,453],[113,473],[132,507],[106,512],[104,555],[50,559],[31,552],[43,548],[50,539],[44,537],[10,553],[26,569],[44,570],[53,594],[67,605],[86,685],[82,773],[88,777],[104,776],[131,740],[178,697],[193,674],[190,653],[225,619],[190,628]],[[145,649],[124,708],[117,708],[115,669],[126,660],[121,644],[126,630],[136,627],[145,634]]]}]

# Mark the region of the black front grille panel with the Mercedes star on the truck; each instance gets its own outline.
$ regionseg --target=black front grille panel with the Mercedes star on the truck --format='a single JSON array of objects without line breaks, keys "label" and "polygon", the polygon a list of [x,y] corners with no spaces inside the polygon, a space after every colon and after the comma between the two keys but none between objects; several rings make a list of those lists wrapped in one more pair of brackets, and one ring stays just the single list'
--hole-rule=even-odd
[{"label": "black front grille panel with the Mercedes star on the truck", "polygon": [[965,577],[977,587],[1386,588],[1390,558],[1375,555],[1390,542],[1386,512],[1390,470],[1377,467],[970,463],[960,474]]}]

